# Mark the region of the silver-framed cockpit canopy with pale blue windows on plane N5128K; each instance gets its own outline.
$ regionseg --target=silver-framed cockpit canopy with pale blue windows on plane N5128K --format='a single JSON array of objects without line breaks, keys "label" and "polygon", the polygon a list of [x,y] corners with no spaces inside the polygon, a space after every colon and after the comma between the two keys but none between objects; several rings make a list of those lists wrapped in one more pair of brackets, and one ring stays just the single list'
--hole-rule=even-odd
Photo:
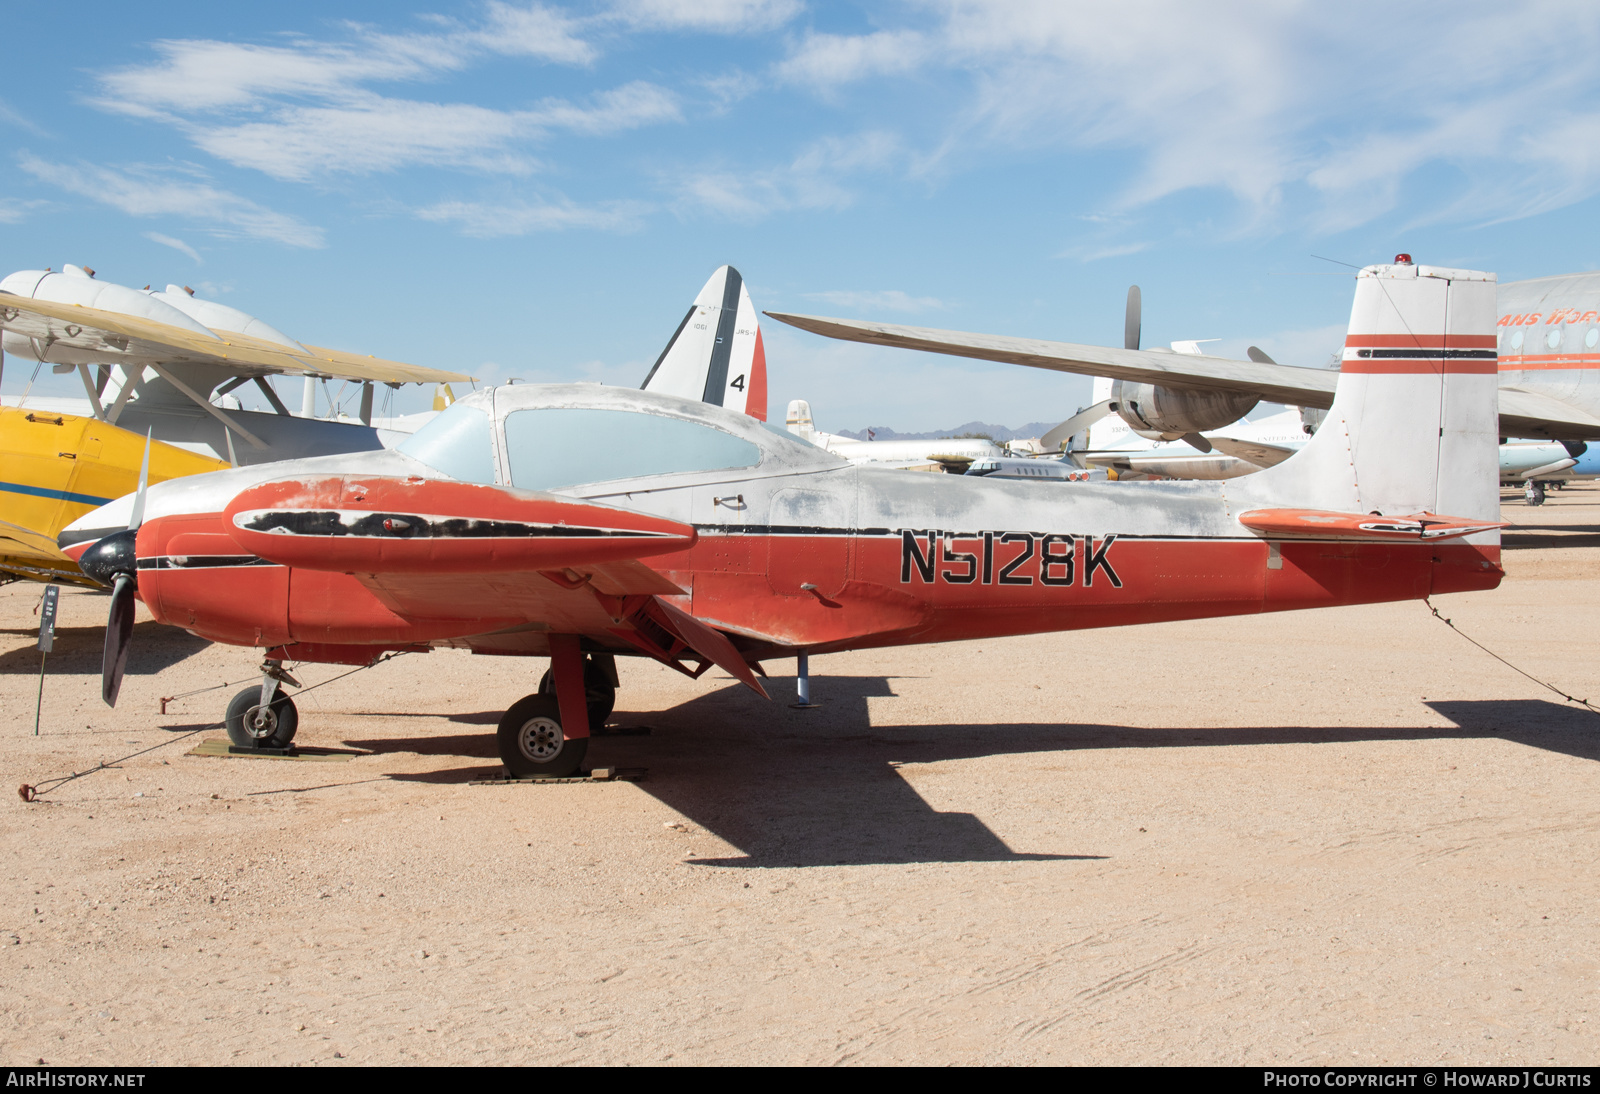
[{"label": "silver-framed cockpit canopy with pale blue windows on plane N5128K", "polygon": [[584,497],[845,465],[746,414],[597,384],[475,392],[400,451],[461,481]]}]

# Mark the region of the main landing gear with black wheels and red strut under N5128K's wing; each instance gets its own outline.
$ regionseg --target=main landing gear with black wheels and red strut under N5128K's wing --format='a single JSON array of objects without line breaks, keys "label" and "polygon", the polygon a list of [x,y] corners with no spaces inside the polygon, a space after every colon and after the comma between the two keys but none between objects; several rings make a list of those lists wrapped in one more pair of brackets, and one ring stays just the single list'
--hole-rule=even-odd
[{"label": "main landing gear with black wheels and red strut under N5128K's wing", "polygon": [[517,779],[578,774],[598,729],[616,705],[611,654],[584,656],[576,635],[550,635],[550,670],[539,691],[518,699],[501,718],[496,741]]}]

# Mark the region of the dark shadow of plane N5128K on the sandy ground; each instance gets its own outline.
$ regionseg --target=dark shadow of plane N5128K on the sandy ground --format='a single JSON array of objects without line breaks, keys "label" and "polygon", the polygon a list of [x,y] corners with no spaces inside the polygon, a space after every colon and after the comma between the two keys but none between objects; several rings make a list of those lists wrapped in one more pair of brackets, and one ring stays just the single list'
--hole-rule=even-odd
[{"label": "dark shadow of plane N5128K on the sandy ground", "polygon": [[[907,862],[1005,862],[1094,859],[1094,854],[1030,852],[1010,848],[968,813],[934,809],[901,773],[901,765],[1016,757],[1077,749],[1173,749],[1261,744],[1326,744],[1502,737],[1582,760],[1600,760],[1600,720],[1587,710],[1542,699],[1435,701],[1451,720],[1438,728],[1251,726],[1160,729],[1106,725],[880,725],[869,701],[891,697],[890,677],[829,677],[814,683],[818,710],[763,702],[725,686],[680,707],[616,721],[648,723],[648,737],[598,737],[592,765],[648,768],[640,789],[694,825],[738,848],[738,857],[691,859],[722,867],[866,865]],[[792,681],[768,681],[787,694]],[[624,694],[626,697],[626,694]],[[453,721],[490,725],[490,712]],[[493,758],[491,733],[443,737],[347,741],[374,752]],[[422,782],[493,777],[499,765],[472,765],[394,776]],[[538,793],[536,787],[528,789]],[[1090,851],[1077,849],[1072,851]]]}]

